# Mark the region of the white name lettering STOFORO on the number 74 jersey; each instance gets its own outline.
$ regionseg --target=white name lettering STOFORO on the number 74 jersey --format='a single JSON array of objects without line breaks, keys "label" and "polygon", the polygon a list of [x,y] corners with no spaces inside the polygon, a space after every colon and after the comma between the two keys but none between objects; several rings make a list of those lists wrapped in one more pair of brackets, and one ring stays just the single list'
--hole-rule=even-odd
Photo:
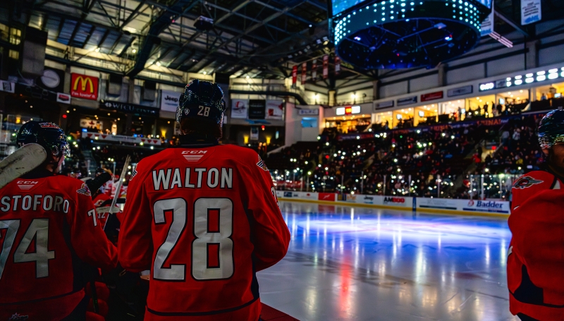
[{"label": "white name lettering STOFORO on the number 74 jersey", "polygon": [[61,196],[51,195],[12,195],[0,200],[0,211],[54,211],[68,213],[70,203]]}]

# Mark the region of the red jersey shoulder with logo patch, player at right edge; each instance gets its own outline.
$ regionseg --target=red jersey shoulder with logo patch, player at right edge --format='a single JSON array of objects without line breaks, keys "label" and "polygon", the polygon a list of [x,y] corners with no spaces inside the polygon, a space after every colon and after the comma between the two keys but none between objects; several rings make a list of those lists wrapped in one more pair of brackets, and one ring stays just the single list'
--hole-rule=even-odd
[{"label": "red jersey shoulder with logo patch, player at right edge", "polygon": [[522,203],[542,190],[560,189],[560,181],[548,171],[531,171],[513,182],[513,202]]}]

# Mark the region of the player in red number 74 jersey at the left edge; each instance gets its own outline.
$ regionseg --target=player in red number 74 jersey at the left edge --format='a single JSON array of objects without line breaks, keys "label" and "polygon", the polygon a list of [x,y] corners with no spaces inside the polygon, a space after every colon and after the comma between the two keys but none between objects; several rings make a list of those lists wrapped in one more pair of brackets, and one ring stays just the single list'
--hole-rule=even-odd
[{"label": "player in red number 74 jersey at the left edge", "polygon": [[0,190],[0,320],[85,320],[81,266],[114,268],[117,250],[86,184],[56,175],[68,156],[61,128],[30,121],[16,139],[42,145],[47,160]]}]

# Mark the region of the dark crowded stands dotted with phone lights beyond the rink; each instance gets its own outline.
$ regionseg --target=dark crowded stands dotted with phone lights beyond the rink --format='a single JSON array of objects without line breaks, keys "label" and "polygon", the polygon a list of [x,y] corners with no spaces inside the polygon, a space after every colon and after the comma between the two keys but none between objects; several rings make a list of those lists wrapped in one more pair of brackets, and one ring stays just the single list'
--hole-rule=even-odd
[{"label": "dark crowded stands dotted with phone lights beyond the rink", "polygon": [[[301,188],[309,181],[307,190],[314,191],[466,198],[467,174],[522,174],[539,168],[535,130],[542,116],[388,131],[372,126],[371,132],[358,135],[326,130],[317,143],[286,147],[269,155],[266,164],[281,173],[299,169],[297,175],[285,176],[286,187]],[[293,177],[300,183],[290,183]]]}]

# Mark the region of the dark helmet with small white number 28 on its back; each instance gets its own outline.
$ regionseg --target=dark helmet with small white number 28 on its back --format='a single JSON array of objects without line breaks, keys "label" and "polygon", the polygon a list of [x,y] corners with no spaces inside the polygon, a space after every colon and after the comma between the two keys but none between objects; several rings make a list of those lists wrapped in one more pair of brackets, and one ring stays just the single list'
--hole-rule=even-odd
[{"label": "dark helmet with small white number 28 on its back", "polygon": [[186,85],[180,95],[176,108],[176,121],[180,123],[185,118],[195,117],[202,120],[209,119],[221,125],[225,109],[221,87],[216,83],[195,79]]}]

